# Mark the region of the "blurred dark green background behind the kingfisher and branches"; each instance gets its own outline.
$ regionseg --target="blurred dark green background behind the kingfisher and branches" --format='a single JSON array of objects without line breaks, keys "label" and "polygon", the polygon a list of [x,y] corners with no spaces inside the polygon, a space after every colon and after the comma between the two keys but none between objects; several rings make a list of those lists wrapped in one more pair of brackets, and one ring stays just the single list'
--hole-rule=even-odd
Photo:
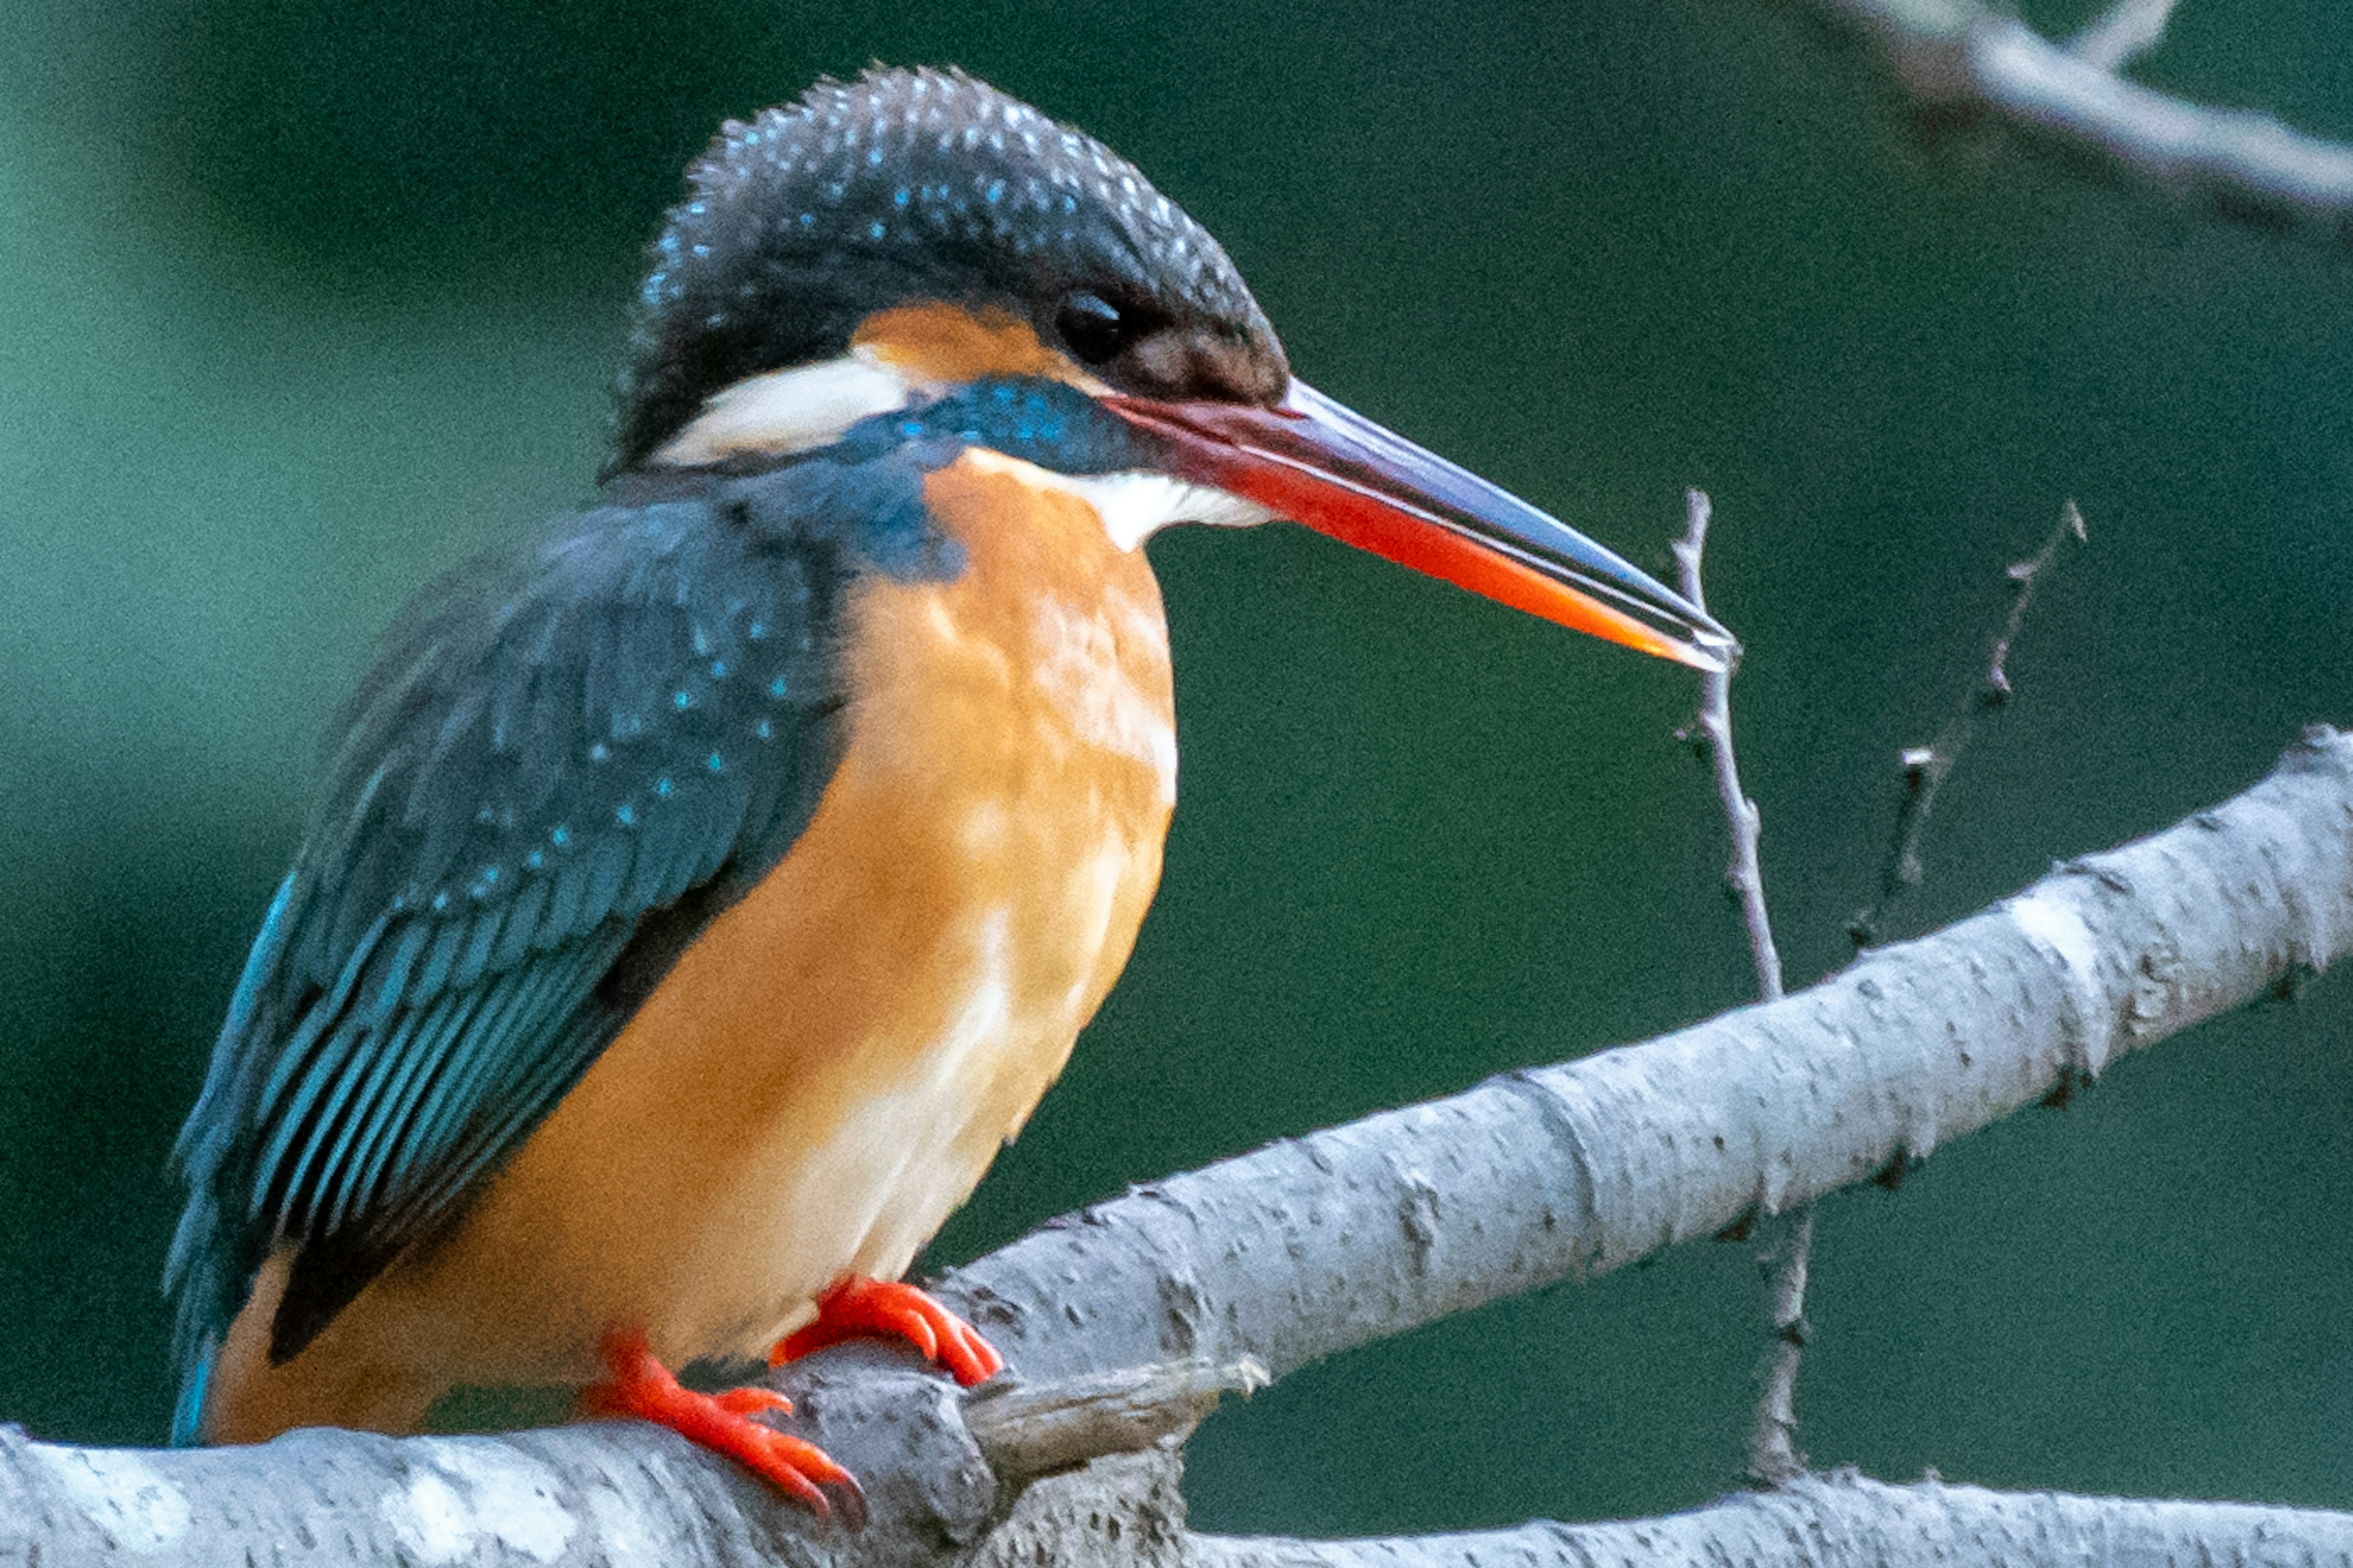
[{"label": "blurred dark green background behind the kingfisher and branches", "polygon": [[[2092,548],[1904,931],[2353,717],[2353,259],[1922,139],[1793,9],[0,0],[0,1418],[162,1434],[165,1150],[325,717],[407,592],[588,494],[680,165],[871,59],[1094,129],[1318,386],[1638,559],[1715,494],[1793,983],[1845,959],[1894,752],[2064,496]],[[2195,0],[2144,75],[2353,136],[2344,7]],[[1153,559],[1167,882],[941,1258],[1748,994],[1682,672],[1297,529]],[[2353,1507],[2348,1044],[2322,980],[1833,1199],[1812,1455]],[[1741,1462],[1751,1253],[1301,1373],[1195,1439],[1195,1516],[1701,1502]]]}]

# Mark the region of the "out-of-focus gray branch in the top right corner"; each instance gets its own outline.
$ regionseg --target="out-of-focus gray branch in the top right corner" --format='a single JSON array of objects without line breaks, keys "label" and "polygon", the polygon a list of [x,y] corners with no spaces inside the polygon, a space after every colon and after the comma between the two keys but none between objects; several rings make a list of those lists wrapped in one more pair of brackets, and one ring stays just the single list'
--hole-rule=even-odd
[{"label": "out-of-focus gray branch in the top right corner", "polygon": [[2353,242],[2353,148],[2115,75],[2111,66],[2162,33],[2167,5],[2127,0],[2075,47],[1981,0],[1814,0],[1814,9],[1868,33],[1925,108],[1991,115],[2231,216]]}]

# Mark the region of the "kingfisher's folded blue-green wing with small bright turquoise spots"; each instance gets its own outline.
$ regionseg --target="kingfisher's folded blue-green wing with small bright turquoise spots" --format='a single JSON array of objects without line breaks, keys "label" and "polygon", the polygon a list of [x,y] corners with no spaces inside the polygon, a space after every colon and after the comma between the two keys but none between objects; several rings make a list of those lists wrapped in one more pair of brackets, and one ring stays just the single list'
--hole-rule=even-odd
[{"label": "kingfisher's folded blue-green wing with small bright turquoise spots", "polygon": [[920,477],[805,463],[586,512],[395,632],[181,1133],[184,1436],[273,1248],[287,1359],[800,835],[842,745],[849,583],[955,569]]}]

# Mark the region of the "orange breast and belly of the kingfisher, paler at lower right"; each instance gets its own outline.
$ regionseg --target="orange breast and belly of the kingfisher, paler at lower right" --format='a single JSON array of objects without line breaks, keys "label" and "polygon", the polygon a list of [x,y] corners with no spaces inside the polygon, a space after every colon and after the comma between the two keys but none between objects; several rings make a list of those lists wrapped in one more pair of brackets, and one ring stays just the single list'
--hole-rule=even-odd
[{"label": "orange breast and belly of the kingfisher, paler at lower right", "polygon": [[264,1269],[209,1439],[588,1382],[614,1326],[673,1363],[758,1354],[840,1274],[906,1269],[1125,966],[1174,804],[1158,583],[1035,477],[932,475],[967,567],[856,590],[849,745],[807,832],[459,1229],[275,1368]]}]

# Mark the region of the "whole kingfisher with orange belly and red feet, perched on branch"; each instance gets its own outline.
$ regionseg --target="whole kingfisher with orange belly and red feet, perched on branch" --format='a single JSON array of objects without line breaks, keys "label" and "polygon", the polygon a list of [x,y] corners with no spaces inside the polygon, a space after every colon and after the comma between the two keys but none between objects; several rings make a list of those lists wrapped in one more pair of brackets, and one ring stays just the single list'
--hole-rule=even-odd
[{"label": "whole kingfisher with orange belly and red feet, perched on branch", "polygon": [[1294,520],[1704,670],[1732,637],[1297,381],[1226,252],[955,71],[727,122],[652,247],[598,503],[395,623],[176,1145],[176,1441],[553,1385],[816,1509],[687,1361],[906,1338],[1176,802],[1144,541]]}]

